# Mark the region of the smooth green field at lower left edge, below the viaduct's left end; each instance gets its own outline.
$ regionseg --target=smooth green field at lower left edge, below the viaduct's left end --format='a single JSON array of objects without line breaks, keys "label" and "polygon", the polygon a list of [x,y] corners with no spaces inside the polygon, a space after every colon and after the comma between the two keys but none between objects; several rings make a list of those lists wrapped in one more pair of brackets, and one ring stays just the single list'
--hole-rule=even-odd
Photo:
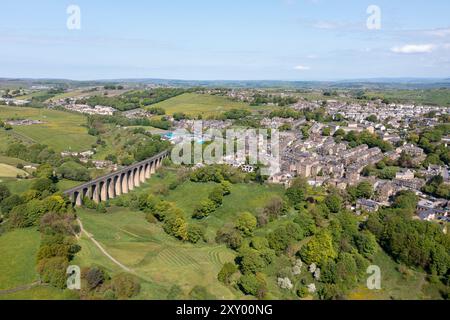
[{"label": "smooth green field at lower left edge, below the viaduct's left end", "polygon": [[14,230],[0,236],[0,290],[38,280],[36,253],[40,234],[36,229]]}]

